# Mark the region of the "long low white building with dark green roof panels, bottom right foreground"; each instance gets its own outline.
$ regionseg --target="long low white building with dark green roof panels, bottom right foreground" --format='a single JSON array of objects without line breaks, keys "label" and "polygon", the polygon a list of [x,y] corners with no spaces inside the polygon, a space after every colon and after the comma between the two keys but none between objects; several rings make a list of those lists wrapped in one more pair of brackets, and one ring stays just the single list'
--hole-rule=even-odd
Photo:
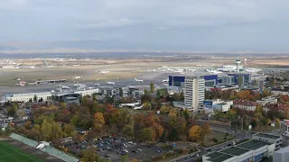
[{"label": "long low white building with dark green roof panels, bottom right foreground", "polygon": [[273,156],[275,144],[261,140],[248,140],[234,147],[225,148],[202,156],[203,162],[250,162]]}]

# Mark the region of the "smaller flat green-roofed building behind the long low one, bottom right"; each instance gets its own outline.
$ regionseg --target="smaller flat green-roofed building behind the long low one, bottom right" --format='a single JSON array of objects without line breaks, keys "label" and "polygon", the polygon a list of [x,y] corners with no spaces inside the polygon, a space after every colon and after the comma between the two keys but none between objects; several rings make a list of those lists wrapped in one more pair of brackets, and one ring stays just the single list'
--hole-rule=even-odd
[{"label": "smaller flat green-roofed building behind the long low one, bottom right", "polygon": [[266,133],[256,133],[252,135],[252,139],[265,141],[275,144],[275,149],[279,149],[282,144],[282,137]]}]

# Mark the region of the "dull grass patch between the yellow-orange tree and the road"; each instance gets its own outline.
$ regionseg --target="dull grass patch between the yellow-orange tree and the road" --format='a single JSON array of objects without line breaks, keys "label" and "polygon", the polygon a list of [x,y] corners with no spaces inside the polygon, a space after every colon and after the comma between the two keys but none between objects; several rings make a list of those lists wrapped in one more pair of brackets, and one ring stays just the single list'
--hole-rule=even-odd
[{"label": "dull grass patch between the yellow-orange tree and the road", "polygon": [[[226,139],[224,139],[226,136],[225,133],[222,133],[222,132],[216,132],[216,131],[211,131],[210,134],[206,134],[205,135],[205,139],[204,139],[204,143],[203,143],[203,146],[208,148],[210,146],[213,146],[213,145],[217,145],[219,143],[222,143],[224,141],[226,141]],[[218,140],[218,142],[215,142],[213,141],[212,139],[215,138]],[[234,139],[233,136],[231,135],[228,135],[228,139],[227,140],[230,140],[230,139]]]}]

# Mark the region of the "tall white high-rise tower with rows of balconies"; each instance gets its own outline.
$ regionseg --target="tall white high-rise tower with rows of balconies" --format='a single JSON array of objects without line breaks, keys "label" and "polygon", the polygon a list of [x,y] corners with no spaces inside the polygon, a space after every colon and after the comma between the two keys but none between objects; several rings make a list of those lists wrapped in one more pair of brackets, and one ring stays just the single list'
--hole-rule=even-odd
[{"label": "tall white high-rise tower with rows of balconies", "polygon": [[205,79],[201,76],[186,76],[184,103],[198,112],[205,100]]}]

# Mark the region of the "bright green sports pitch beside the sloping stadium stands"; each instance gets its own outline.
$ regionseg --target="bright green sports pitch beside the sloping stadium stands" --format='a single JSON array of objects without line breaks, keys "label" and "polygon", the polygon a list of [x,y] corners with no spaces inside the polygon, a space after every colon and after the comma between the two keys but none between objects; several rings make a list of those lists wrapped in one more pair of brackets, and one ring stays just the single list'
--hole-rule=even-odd
[{"label": "bright green sports pitch beside the sloping stadium stands", "polygon": [[42,160],[33,157],[27,153],[24,153],[19,148],[14,148],[13,146],[9,145],[6,141],[0,141],[0,161],[1,162],[14,162],[14,161],[21,161],[21,162],[41,162]]}]

